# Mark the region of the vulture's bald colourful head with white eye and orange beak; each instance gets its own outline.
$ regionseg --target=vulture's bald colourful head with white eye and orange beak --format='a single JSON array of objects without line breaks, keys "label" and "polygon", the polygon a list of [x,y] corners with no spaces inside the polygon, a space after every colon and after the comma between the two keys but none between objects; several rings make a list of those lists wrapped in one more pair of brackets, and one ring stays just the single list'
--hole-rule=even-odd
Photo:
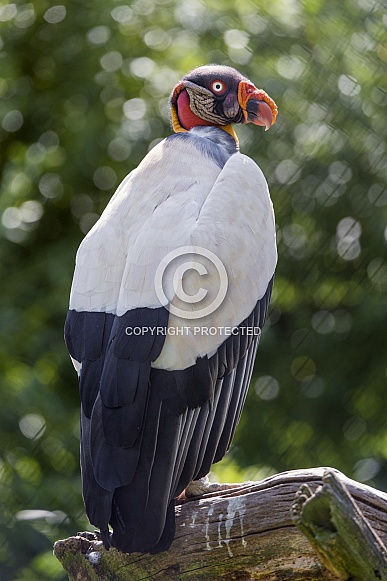
[{"label": "vulture's bald colourful head with white eye and orange beak", "polygon": [[254,123],[267,130],[278,112],[265,91],[223,65],[198,67],[185,75],[173,89],[170,105],[175,132],[198,125],[226,128],[233,123]]}]

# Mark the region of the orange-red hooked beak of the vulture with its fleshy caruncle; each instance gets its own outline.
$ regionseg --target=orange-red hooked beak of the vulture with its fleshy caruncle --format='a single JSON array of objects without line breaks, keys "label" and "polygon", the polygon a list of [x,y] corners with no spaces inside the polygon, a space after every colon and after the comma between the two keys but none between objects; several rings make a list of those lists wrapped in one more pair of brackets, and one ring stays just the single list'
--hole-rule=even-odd
[{"label": "orange-red hooked beak of the vulture with its fleshy caruncle", "polygon": [[241,81],[238,86],[238,101],[245,123],[262,125],[265,131],[275,123],[278,113],[277,105],[265,91],[257,89],[248,81]]}]

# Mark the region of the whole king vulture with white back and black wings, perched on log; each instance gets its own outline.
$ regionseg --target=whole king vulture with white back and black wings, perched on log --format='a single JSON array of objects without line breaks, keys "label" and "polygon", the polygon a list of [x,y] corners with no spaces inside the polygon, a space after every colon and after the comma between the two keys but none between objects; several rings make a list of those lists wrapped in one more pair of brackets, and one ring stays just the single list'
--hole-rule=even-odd
[{"label": "whole king vulture with white back and black wings, perched on log", "polygon": [[78,249],[65,325],[86,512],[104,545],[127,553],[169,548],[175,499],[230,447],[277,260],[266,180],[232,128],[268,129],[275,103],[208,65],[170,107],[174,134]]}]

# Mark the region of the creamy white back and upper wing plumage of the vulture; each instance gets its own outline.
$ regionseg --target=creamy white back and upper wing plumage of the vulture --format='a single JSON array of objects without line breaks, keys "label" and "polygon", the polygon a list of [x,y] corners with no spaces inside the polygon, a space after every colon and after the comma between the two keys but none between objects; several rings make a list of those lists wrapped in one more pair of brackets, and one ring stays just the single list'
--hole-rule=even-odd
[{"label": "creamy white back and upper wing plumage of the vulture", "polygon": [[[155,274],[163,258],[187,246],[208,249],[226,268],[227,292],[219,308],[199,320],[170,314],[169,327],[183,327],[184,334],[167,333],[153,366],[177,370],[214,353],[225,339],[222,332],[194,334],[194,327],[234,328],[251,313],[274,274],[277,253],[273,206],[257,164],[237,152],[220,168],[203,163],[187,140],[172,145],[159,143],[129,174],[83,240],[70,309],[120,316],[160,307]],[[172,287],[171,280],[164,284]],[[194,271],[187,271],[184,285],[194,292]],[[216,276],[206,278],[207,290],[218,285]],[[187,307],[195,312],[202,305]]]}]

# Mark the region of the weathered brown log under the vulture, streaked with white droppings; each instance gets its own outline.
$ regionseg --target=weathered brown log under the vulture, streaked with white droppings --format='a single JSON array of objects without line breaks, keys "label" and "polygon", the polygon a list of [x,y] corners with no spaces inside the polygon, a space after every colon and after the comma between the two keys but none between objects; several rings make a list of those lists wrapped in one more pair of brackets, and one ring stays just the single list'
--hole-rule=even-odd
[{"label": "weathered brown log under the vulture, streaked with white droppings", "polygon": [[[334,476],[326,477],[324,483],[324,473],[323,468],[295,470],[262,482],[248,482],[238,488],[207,494],[197,500],[182,501],[176,507],[176,537],[170,550],[165,553],[126,555],[114,549],[106,551],[92,533],[85,536],[82,533],[57,541],[54,554],[74,581],[387,579],[383,546],[387,542],[387,495],[354,482],[335,470],[330,470],[329,473]],[[340,508],[342,502],[337,488],[342,483],[351,495],[347,495],[351,510],[355,511],[356,519],[367,530],[364,533],[366,544],[374,545],[371,553],[379,559],[376,561],[377,568],[372,569],[374,577],[356,577],[345,568],[334,569],[329,559],[335,559],[335,553],[330,553],[330,549],[313,548],[292,521],[293,514],[298,526],[304,527],[305,534],[313,543],[316,537],[324,535],[329,539],[332,534],[344,537],[353,534],[352,527],[342,523],[352,520],[354,513],[348,512],[344,504],[344,515],[339,510],[336,514],[336,505]],[[320,488],[323,484],[325,491]],[[318,490],[315,496],[317,503],[321,503],[321,497],[330,495],[327,485],[333,491],[334,500],[326,501],[326,506],[335,508],[324,505],[321,512],[319,504],[313,507],[313,491]],[[292,513],[292,503],[301,486],[304,488],[297,497]],[[355,508],[351,497],[356,502]],[[333,504],[330,505],[330,502]],[[317,522],[312,524],[313,518],[310,522],[305,521],[308,515],[317,515]],[[327,531],[322,533],[325,523]],[[359,526],[360,529],[355,528],[354,532],[358,543],[355,553],[361,552],[358,548],[363,544],[360,536],[364,538],[363,525]],[[373,531],[367,528],[369,526]],[[308,527],[310,530],[306,532]],[[349,542],[351,547],[355,546],[353,543]],[[342,550],[345,550],[344,545]],[[320,559],[323,557],[327,566],[322,564],[319,556]],[[370,564],[373,567],[373,562]]]}]

